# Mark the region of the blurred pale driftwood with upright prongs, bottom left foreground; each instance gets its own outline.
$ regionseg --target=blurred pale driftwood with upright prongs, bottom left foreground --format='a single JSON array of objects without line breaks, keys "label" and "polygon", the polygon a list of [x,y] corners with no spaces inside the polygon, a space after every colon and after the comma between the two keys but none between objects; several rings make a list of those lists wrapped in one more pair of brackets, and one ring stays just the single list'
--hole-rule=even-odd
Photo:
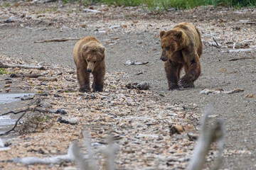
[{"label": "blurred pale driftwood with upright prongs, bottom left foreground", "polygon": [[24,157],[24,158],[14,158],[9,160],[9,162],[16,162],[21,164],[62,164],[63,162],[73,162],[78,164],[81,170],[97,170],[98,166],[95,159],[95,154],[102,152],[106,158],[105,169],[114,170],[114,158],[117,152],[117,147],[114,145],[113,137],[108,137],[108,146],[100,149],[97,152],[92,151],[90,138],[85,131],[82,131],[82,135],[85,140],[85,147],[87,149],[87,155],[83,155],[78,147],[77,142],[72,142],[68,148],[68,153],[64,155],[58,155],[55,157]]}]

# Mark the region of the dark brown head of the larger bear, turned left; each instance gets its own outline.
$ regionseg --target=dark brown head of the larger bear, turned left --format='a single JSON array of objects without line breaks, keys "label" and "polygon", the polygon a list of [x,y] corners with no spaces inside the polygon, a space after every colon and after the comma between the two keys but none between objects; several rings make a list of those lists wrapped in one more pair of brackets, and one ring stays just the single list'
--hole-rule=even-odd
[{"label": "dark brown head of the larger bear, turned left", "polygon": [[182,50],[184,43],[184,35],[181,30],[169,30],[165,32],[164,30],[160,31],[161,38],[161,60],[166,62],[169,60],[169,57],[178,50]]}]

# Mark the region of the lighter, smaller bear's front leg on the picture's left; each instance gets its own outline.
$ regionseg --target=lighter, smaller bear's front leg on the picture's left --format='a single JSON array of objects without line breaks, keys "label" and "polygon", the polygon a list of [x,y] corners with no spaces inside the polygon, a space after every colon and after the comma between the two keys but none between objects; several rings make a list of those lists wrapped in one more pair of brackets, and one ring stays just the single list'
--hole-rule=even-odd
[{"label": "lighter, smaller bear's front leg on the picture's left", "polygon": [[77,69],[78,82],[80,84],[80,92],[90,91],[90,73],[86,71],[86,67]]}]

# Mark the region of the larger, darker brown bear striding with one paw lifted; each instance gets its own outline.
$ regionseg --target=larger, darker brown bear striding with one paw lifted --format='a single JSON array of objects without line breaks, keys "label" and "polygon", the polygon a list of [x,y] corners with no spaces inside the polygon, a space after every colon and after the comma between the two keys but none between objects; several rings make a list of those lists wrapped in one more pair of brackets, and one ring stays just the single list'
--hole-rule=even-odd
[{"label": "larger, darker brown bear striding with one paw lifted", "polygon": [[[169,84],[169,90],[193,87],[201,74],[199,57],[203,52],[201,35],[191,23],[178,23],[169,31],[160,31],[161,60]],[[185,75],[181,77],[181,69]]]}]

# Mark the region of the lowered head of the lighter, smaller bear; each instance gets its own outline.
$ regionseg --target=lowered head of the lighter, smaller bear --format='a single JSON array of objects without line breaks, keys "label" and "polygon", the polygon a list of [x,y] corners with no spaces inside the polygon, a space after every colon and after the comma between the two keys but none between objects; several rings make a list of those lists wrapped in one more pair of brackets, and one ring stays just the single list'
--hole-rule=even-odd
[{"label": "lowered head of the lighter, smaller bear", "polygon": [[87,62],[87,72],[93,72],[95,66],[105,59],[105,47],[98,42],[88,42],[82,46],[82,50]]}]

